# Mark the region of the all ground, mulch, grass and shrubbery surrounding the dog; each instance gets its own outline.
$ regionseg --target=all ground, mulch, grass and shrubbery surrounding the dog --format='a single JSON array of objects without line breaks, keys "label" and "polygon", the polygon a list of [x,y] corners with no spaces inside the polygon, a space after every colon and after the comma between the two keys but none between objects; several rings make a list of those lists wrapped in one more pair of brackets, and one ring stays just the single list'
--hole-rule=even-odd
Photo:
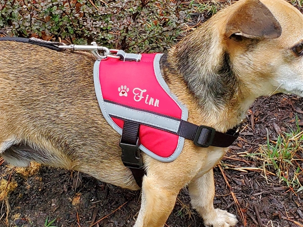
[{"label": "all ground, mulch, grass and shrubbery surrounding the dog", "polygon": [[[234,2],[0,0],[0,36],[66,44],[96,41],[128,52],[165,52]],[[288,2],[302,10],[303,0]],[[239,140],[215,168],[215,206],[236,214],[237,226],[303,227],[301,106],[302,100],[292,95],[258,99]],[[1,227],[132,226],[139,200],[139,192],[79,172],[38,164],[16,168],[0,158]],[[204,226],[189,206],[186,189],[166,226]]]}]

